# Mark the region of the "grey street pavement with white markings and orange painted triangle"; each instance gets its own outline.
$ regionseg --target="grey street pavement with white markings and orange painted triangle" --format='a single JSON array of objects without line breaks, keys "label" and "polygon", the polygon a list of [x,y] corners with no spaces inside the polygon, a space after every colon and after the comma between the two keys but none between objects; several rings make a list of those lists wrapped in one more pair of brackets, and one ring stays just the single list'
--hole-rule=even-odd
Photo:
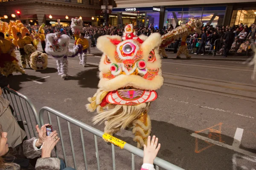
[{"label": "grey street pavement with white markings and orange painted triangle", "polygon": [[[70,48],[74,41],[70,41]],[[41,47],[39,48],[41,50]],[[16,51],[18,54],[18,51]],[[88,55],[88,67],[79,58],[69,58],[69,78],[57,74],[55,60],[49,57],[44,71],[26,69],[8,77],[10,87],[28,96],[39,111],[49,106],[87,125],[93,125],[95,113],[87,112],[87,98],[93,96],[99,82],[98,65],[102,53],[96,48]],[[162,59],[164,85],[157,90],[150,117],[152,133],[161,143],[158,157],[186,170],[253,170],[256,167],[256,84],[247,57],[196,56],[191,59]],[[18,58],[18,57],[17,57]],[[45,119],[45,122],[47,119]],[[55,116],[52,124],[57,129]],[[67,123],[61,122],[67,162],[73,166]],[[79,128],[71,125],[77,169],[85,169]],[[88,169],[97,169],[94,139],[83,131]],[[131,130],[115,135],[136,146]],[[102,170],[112,169],[111,146],[98,138]],[[61,147],[58,145],[61,157]],[[115,147],[116,169],[131,169],[131,154]],[[135,156],[135,169],[143,159]],[[161,169],[161,168],[160,168]]]}]

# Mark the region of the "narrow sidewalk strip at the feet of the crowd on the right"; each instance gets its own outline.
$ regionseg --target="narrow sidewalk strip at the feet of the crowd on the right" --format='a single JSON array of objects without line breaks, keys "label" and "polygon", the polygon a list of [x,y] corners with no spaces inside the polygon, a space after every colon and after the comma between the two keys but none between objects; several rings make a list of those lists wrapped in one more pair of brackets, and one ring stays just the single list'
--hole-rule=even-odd
[{"label": "narrow sidewalk strip at the feet of the crowd on the right", "polygon": [[[176,59],[176,55],[173,52],[168,52],[166,51],[166,54],[168,56],[169,59]],[[191,56],[191,59],[202,59],[202,60],[224,60],[224,61],[246,61],[247,59],[249,59],[250,57],[246,57],[246,56],[228,56],[228,57],[222,57],[221,55],[215,55],[212,56],[212,54],[208,55],[196,55],[196,54],[189,54]],[[251,57],[253,57],[254,55],[252,55]],[[184,54],[180,55],[181,59],[187,59],[186,56]],[[161,56],[162,58],[162,56]]]}]

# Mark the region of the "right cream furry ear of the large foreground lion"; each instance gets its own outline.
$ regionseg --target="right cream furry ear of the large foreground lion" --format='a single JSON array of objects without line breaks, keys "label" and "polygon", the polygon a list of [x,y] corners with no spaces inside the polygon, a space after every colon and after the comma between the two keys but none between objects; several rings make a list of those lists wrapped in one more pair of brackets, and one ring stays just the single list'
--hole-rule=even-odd
[{"label": "right cream furry ear of the large foreground lion", "polygon": [[162,42],[161,35],[159,33],[151,34],[141,45],[143,51],[143,59],[148,60],[150,51],[157,48]]}]

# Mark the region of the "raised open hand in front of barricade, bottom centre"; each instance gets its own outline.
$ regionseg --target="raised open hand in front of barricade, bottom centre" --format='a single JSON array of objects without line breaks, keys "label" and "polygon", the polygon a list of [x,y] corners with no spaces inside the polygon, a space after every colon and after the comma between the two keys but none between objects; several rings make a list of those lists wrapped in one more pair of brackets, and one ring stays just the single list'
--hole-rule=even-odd
[{"label": "raised open hand in front of barricade, bottom centre", "polygon": [[150,136],[148,136],[148,144],[147,146],[144,144],[144,156],[143,156],[143,164],[153,164],[154,159],[157,156],[158,151],[160,150],[160,144],[158,144],[158,138],[156,136],[152,137],[152,141],[150,142]]}]

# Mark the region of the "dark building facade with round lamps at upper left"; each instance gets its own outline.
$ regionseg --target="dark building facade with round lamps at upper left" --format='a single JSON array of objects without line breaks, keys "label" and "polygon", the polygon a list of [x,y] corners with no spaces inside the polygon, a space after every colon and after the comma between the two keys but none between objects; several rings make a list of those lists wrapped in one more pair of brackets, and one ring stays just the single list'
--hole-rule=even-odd
[{"label": "dark building facade with round lamps at upper left", "polygon": [[12,14],[20,11],[18,19],[33,25],[49,24],[50,21],[65,25],[74,17],[82,17],[84,23],[97,23],[95,12],[99,9],[99,0],[0,0],[1,20],[8,22],[15,19]]}]

